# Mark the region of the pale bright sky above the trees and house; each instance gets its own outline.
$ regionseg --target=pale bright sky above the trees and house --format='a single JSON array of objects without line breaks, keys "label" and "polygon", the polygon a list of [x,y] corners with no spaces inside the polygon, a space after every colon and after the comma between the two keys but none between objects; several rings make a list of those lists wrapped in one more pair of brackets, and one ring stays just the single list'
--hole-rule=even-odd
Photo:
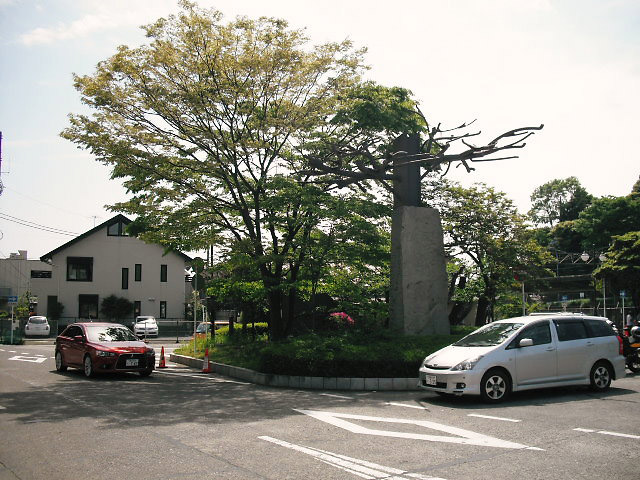
[{"label": "pale bright sky above the trees and house", "polygon": [[[314,44],[366,47],[367,77],[410,89],[431,123],[476,120],[477,143],[544,124],[513,160],[450,178],[504,192],[521,213],[533,190],[575,176],[596,197],[640,175],[640,1],[200,0],[225,20],[282,18]],[[0,0],[0,258],[39,258],[115,215],[120,181],[59,134],[86,113],[72,75],[91,74],[176,0]]]}]

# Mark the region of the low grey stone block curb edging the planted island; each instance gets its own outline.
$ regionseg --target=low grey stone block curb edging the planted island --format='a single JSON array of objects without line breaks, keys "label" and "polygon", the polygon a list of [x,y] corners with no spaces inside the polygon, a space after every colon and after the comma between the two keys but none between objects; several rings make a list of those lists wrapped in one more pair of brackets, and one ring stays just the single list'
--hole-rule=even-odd
[{"label": "low grey stone block curb edging the planted island", "polygon": [[[202,369],[204,360],[185,355],[169,355],[169,361]],[[248,368],[234,367],[224,363],[209,362],[211,371],[226,377],[269,387],[306,388],[310,390],[353,390],[353,391],[419,391],[418,378],[342,378],[303,377],[260,373]]]}]

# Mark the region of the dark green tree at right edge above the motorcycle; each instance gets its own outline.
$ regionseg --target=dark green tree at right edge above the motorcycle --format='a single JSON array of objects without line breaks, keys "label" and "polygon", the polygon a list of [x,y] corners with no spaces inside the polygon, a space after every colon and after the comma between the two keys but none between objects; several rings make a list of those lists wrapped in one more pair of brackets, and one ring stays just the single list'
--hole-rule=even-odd
[{"label": "dark green tree at right edge above the motorcycle", "polygon": [[606,260],[594,271],[616,291],[625,290],[640,306],[640,231],[613,237]]}]

